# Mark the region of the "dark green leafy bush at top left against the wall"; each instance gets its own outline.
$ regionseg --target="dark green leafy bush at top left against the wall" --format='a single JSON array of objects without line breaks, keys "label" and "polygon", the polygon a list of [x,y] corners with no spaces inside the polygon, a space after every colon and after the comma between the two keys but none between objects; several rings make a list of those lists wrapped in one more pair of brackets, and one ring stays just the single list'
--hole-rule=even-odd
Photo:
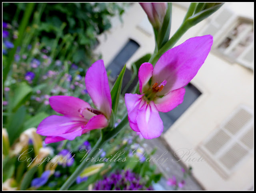
[{"label": "dark green leafy bush at top left against the wall", "polygon": [[[27,3],[3,3],[4,21],[20,24],[22,18],[20,15],[25,13],[27,5]],[[111,17],[121,16],[126,5],[124,3],[37,3],[35,12],[41,9],[44,11],[40,16],[41,20],[34,26],[36,36],[45,46],[55,48],[56,45],[66,45],[66,51],[60,49],[56,58],[64,57],[64,52],[66,54],[72,52],[75,47],[76,52],[69,60],[81,62],[81,65],[90,65],[94,59],[92,49],[98,44],[96,36],[111,28]],[[33,20],[30,20],[30,26],[33,23]],[[63,24],[65,24],[64,28]],[[73,39],[68,40],[68,37]]]}]

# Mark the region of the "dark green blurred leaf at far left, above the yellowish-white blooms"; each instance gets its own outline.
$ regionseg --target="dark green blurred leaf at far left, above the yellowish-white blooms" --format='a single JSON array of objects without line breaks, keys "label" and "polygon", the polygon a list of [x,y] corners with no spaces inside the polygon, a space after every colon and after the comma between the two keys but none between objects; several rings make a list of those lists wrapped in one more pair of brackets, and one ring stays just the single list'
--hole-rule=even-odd
[{"label": "dark green blurred leaf at far left, above the yellowish-white blooms", "polygon": [[21,106],[16,113],[13,113],[10,118],[8,119],[8,125],[6,130],[9,135],[10,145],[14,142],[16,138],[20,136],[22,132],[22,125],[24,123],[26,115],[26,108]]}]

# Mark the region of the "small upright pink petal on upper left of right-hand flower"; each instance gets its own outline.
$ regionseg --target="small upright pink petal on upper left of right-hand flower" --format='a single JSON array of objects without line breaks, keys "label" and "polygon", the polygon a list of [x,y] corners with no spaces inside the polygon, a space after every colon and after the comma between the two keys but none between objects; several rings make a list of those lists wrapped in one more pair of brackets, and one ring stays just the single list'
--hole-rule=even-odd
[{"label": "small upright pink petal on upper left of right-hand flower", "polygon": [[[142,93],[142,88],[149,88],[148,81],[152,77],[153,65],[145,62],[140,66],[138,77],[140,82],[140,93]],[[147,86],[148,85],[148,86]]]}]

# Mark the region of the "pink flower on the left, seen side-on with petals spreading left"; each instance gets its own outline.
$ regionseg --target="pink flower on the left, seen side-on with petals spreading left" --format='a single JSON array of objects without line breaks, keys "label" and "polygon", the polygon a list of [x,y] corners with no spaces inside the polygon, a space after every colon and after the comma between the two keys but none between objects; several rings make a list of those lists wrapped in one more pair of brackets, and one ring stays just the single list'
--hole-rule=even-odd
[{"label": "pink flower on the left, seen side-on with petals spreading left", "polygon": [[92,129],[102,129],[108,125],[112,101],[103,60],[98,60],[88,69],[85,84],[97,109],[76,97],[50,97],[52,109],[64,116],[51,115],[39,124],[36,132],[47,136],[45,143],[73,140]]}]

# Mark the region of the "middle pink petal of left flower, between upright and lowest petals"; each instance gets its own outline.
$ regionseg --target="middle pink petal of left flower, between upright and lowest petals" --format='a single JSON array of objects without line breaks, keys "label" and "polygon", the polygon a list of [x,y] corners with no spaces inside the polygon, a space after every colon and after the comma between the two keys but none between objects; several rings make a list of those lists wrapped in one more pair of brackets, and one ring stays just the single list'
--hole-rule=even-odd
[{"label": "middle pink petal of left flower, between upright and lowest petals", "polygon": [[[54,111],[62,115],[80,116],[80,111],[86,119],[90,119],[95,114],[88,111],[86,108],[92,108],[87,102],[82,99],[72,96],[52,96],[49,98],[50,105]],[[85,109],[85,110],[84,110]]]}]

